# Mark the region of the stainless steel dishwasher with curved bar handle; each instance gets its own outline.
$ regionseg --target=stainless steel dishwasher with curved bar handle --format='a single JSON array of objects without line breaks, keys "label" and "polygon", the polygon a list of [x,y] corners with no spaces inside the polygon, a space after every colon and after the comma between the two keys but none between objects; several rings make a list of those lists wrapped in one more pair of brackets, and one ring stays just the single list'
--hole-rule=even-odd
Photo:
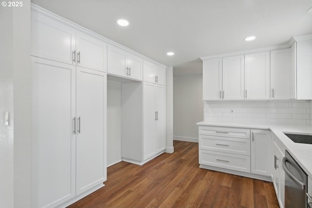
[{"label": "stainless steel dishwasher with curved bar handle", "polygon": [[287,150],[282,164],[285,170],[285,208],[308,208],[307,174]]}]

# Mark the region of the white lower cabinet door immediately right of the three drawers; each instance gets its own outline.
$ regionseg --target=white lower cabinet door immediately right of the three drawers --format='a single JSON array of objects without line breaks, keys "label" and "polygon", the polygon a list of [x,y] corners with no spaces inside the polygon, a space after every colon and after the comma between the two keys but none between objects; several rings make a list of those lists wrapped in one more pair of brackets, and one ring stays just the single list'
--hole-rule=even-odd
[{"label": "white lower cabinet door immediately right of the three drawers", "polygon": [[271,132],[266,130],[252,130],[251,172],[259,175],[271,176],[270,158]]}]

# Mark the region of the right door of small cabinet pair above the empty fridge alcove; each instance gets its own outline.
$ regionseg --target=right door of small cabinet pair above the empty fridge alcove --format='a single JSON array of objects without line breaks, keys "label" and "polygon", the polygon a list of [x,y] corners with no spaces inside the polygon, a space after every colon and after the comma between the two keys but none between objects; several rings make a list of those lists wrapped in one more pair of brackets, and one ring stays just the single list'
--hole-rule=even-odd
[{"label": "right door of small cabinet pair above the empty fridge alcove", "polygon": [[136,80],[142,80],[143,60],[133,54],[128,54],[128,77]]}]

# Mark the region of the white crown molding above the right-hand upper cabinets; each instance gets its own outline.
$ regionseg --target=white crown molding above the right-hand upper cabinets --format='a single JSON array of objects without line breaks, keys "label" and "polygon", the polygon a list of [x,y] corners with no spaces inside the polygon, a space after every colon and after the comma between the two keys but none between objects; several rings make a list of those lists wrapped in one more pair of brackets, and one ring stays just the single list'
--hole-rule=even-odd
[{"label": "white crown molding above the right-hand upper cabinets", "polygon": [[265,52],[265,51],[273,51],[273,50],[279,50],[279,49],[284,49],[284,48],[289,48],[289,47],[290,47],[289,44],[275,45],[275,46],[269,46],[269,47],[264,47],[264,48],[255,48],[255,49],[245,50],[245,51],[236,51],[236,52],[217,54],[217,55],[212,55],[212,56],[203,56],[203,57],[199,57],[199,58],[202,61],[204,61],[204,60],[209,60],[209,59],[231,57],[231,56],[259,53],[259,52]]}]

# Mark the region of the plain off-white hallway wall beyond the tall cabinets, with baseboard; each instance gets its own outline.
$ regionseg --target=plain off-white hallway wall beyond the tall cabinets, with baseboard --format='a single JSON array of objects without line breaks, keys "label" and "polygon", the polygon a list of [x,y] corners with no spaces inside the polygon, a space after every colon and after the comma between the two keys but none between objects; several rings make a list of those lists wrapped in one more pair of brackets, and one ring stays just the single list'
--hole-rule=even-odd
[{"label": "plain off-white hallway wall beyond the tall cabinets, with baseboard", "polygon": [[202,75],[174,77],[174,140],[198,142],[203,121]]}]

